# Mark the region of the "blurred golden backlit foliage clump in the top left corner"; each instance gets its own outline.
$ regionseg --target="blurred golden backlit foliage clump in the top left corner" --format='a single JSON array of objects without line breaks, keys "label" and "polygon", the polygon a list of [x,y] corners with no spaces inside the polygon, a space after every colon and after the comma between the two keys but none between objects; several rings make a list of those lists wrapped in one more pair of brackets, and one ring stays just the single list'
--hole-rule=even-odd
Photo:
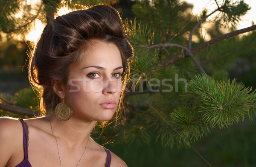
[{"label": "blurred golden backlit foliage clump in the top left corner", "polygon": [[[24,39],[28,27],[35,24],[35,20],[45,20],[40,2],[32,4],[24,0],[2,0],[0,9],[0,37],[7,40],[12,37]],[[8,35],[4,35],[6,33]]]}]

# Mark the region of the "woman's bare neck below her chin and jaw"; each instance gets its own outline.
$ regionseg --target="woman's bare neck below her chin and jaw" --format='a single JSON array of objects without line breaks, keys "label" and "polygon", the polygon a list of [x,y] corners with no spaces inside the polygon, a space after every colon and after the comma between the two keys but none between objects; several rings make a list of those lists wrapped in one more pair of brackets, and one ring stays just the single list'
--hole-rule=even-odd
[{"label": "woman's bare neck below her chin and jaw", "polygon": [[50,115],[49,119],[57,140],[62,140],[68,147],[73,148],[87,143],[96,123],[96,121],[82,121],[72,117],[68,121],[59,121],[55,115]]}]

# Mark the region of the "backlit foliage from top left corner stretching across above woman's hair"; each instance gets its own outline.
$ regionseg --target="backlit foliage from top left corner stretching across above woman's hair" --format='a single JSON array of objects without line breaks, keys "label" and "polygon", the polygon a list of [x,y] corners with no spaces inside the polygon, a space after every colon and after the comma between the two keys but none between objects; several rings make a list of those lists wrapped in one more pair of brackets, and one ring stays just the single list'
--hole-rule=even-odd
[{"label": "backlit foliage from top left corner stretching across above woman's hair", "polygon": [[36,21],[50,23],[60,8],[83,9],[87,5],[115,4],[118,0],[2,0],[0,1],[0,40],[19,39],[26,41],[26,35],[35,27]]}]

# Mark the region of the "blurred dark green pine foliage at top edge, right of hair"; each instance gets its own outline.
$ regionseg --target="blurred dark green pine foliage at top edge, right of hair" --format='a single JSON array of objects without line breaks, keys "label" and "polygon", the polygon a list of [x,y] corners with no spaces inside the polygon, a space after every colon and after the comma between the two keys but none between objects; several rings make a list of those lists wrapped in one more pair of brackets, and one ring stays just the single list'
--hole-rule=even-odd
[{"label": "blurred dark green pine foliage at top edge, right of hair", "polygon": [[[176,43],[185,40],[184,34],[195,24],[192,15],[185,11],[192,8],[186,2],[178,3],[177,0],[142,0],[132,7],[132,12],[143,25],[154,29],[155,42],[169,42],[174,40]],[[181,12],[183,11],[183,12]],[[185,26],[192,20],[189,25]],[[179,38],[174,38],[179,35]]]}]

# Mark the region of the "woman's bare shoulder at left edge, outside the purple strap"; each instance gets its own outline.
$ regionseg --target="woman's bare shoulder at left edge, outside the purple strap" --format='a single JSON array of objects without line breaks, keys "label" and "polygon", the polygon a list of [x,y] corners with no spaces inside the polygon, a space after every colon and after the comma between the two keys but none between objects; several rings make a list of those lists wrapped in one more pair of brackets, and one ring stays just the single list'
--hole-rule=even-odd
[{"label": "woman's bare shoulder at left edge, outside the purple strap", "polygon": [[7,164],[15,152],[23,153],[23,128],[18,119],[0,117],[0,148],[0,166]]}]

